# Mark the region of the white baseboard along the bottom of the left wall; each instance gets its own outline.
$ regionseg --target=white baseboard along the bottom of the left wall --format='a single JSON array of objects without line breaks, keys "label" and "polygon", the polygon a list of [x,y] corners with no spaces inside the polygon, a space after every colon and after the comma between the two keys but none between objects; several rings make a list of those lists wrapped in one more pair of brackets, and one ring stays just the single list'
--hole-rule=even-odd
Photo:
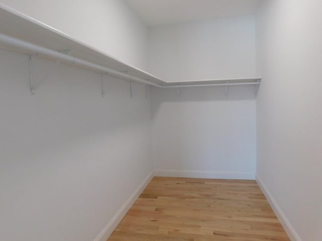
[{"label": "white baseboard along the bottom of the left wall", "polygon": [[143,192],[147,184],[152,180],[153,178],[153,172],[151,172],[140,184],[140,186],[132,193],[132,195],[126,200],[126,202],[123,204],[123,206],[120,208],[120,210],[114,215],[114,217],[111,219],[111,221],[105,226],[105,228],[101,231],[101,233],[95,238],[94,241],[106,241],[109,236],[112,234],[114,229],[117,227],[117,225],[121,222],[123,217],[126,215],[128,210],[132,207],[136,199],[140,196],[140,194]]}]

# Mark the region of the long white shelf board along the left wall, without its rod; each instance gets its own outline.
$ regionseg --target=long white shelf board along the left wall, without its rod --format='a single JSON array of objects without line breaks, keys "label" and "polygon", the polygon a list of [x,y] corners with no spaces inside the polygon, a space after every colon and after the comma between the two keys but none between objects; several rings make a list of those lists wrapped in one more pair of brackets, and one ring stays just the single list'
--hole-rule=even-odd
[{"label": "long white shelf board along the left wall, without its rod", "polygon": [[[51,50],[61,51],[68,49],[71,51],[71,55],[76,58],[108,67],[119,72],[125,72],[128,75],[148,80],[152,83],[166,83],[152,74],[119,61],[98,49],[84,44],[69,35],[66,35],[20,12],[17,12],[16,10],[13,10],[1,3],[0,23],[0,33],[2,34]],[[0,46],[27,54],[35,54],[26,52],[24,49],[17,49],[16,47],[8,44],[0,43]]]}]

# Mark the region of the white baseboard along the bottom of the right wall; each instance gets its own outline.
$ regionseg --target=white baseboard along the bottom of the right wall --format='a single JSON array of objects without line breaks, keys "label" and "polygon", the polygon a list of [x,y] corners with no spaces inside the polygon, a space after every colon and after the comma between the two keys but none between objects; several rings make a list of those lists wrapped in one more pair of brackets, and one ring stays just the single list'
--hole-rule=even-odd
[{"label": "white baseboard along the bottom of the right wall", "polygon": [[291,241],[302,241],[258,174],[256,174],[256,181]]}]

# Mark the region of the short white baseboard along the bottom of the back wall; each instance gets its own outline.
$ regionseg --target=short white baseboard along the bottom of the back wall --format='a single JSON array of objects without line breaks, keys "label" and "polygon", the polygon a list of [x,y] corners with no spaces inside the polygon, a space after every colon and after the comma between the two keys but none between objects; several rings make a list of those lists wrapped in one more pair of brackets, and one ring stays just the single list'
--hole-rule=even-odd
[{"label": "short white baseboard along the bottom of the back wall", "polygon": [[154,170],[154,176],[255,180],[255,173],[251,173],[251,172],[209,172],[209,171],[192,171],[192,170]]}]

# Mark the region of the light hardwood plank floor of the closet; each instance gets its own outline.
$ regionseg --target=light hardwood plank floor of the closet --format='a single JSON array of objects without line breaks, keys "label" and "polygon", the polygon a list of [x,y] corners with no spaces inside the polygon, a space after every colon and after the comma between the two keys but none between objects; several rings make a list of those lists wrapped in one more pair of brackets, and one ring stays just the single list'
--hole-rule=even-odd
[{"label": "light hardwood plank floor of the closet", "polygon": [[109,241],[288,241],[256,181],[154,177]]}]

